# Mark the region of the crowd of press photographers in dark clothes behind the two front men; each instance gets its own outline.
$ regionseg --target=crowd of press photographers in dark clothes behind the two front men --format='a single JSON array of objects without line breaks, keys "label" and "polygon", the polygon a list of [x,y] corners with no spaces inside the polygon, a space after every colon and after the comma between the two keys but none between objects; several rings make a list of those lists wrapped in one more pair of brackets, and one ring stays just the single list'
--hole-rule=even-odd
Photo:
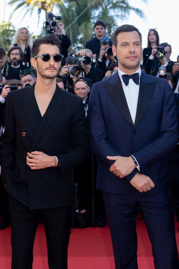
[{"label": "crowd of press photographers in dark clothes behind the two front men", "polygon": [[[69,55],[68,48],[71,41],[64,30],[64,24],[58,22],[60,16],[47,13],[48,21],[44,22],[47,35],[54,35],[61,41],[61,53],[54,54],[54,62],[61,61],[60,72],[56,76],[56,83],[60,89],[80,96],[83,99],[85,116],[88,116],[90,91],[94,83],[106,80],[118,72],[118,60],[113,55],[111,37],[106,36],[106,25],[102,20],[94,24],[95,37],[86,42],[85,48]],[[54,20],[54,18],[57,20]],[[155,77],[167,79],[171,86],[179,120],[179,56],[176,62],[170,60],[171,45],[168,42],[160,44],[156,29],[149,29],[148,45],[143,49],[140,62],[142,72]],[[166,40],[168,41],[168,40]],[[32,38],[27,28],[17,30],[9,51],[0,48],[0,136],[4,132],[6,98],[10,91],[34,85],[36,75],[31,65]],[[42,61],[50,61],[52,55],[42,53],[35,56]],[[31,111],[29,111],[31,113]],[[150,127],[149,127],[150,128]],[[174,210],[179,221],[179,149],[178,146],[168,153],[169,168],[173,187],[170,188]],[[93,166],[92,163],[93,162]],[[92,171],[93,169],[93,171]],[[91,225],[91,176],[96,181],[98,169],[97,157],[91,156],[81,165],[74,168],[74,182],[77,186],[76,227]],[[2,180],[1,180],[2,181]],[[8,195],[2,186],[0,190],[0,209],[2,221],[0,229],[10,226]],[[83,214],[84,220],[79,220],[77,214]],[[78,215],[79,216],[79,215]],[[81,218],[81,216],[80,216]],[[95,226],[106,225],[106,209],[102,192],[95,190]]]}]

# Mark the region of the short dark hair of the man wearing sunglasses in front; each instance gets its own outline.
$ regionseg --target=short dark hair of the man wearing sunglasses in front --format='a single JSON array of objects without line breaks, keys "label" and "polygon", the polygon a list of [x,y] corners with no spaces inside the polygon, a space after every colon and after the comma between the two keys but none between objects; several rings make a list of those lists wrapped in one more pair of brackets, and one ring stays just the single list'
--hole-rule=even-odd
[{"label": "short dark hair of the man wearing sunglasses in front", "polygon": [[42,38],[37,38],[34,41],[32,46],[32,57],[35,57],[39,53],[39,48],[41,44],[50,44],[56,45],[59,49],[59,53],[61,53],[61,41],[54,35],[43,36]]}]

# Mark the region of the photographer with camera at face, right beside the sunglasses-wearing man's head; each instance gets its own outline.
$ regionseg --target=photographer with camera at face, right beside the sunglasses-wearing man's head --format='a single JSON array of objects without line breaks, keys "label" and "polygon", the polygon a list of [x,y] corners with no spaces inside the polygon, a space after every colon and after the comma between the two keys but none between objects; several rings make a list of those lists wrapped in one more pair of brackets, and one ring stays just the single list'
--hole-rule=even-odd
[{"label": "photographer with camera at face, right beside the sunglasses-wearing man's head", "polygon": [[63,79],[66,91],[74,93],[74,83],[78,78],[80,78],[80,73],[81,69],[79,60],[76,57],[68,56],[65,60],[65,65],[59,73],[59,78]]}]

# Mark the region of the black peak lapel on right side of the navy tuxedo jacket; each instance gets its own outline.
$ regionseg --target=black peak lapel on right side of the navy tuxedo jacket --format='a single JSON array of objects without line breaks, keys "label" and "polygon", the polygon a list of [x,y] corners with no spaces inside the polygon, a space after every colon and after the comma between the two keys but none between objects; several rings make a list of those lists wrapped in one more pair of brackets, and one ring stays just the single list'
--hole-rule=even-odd
[{"label": "black peak lapel on right side of the navy tuxedo jacket", "polygon": [[149,77],[142,72],[140,76],[139,97],[137,102],[134,128],[139,123],[145,111],[147,110],[154,94],[155,87],[156,82],[151,82]]}]

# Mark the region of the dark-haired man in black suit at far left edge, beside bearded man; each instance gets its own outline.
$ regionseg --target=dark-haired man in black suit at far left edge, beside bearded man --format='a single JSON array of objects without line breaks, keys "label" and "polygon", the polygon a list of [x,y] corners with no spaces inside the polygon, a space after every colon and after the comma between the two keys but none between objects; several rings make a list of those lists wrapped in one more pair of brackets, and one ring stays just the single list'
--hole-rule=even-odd
[{"label": "dark-haired man in black suit at far left edge, beside bearded man", "polygon": [[17,70],[10,65],[6,63],[7,57],[6,57],[6,51],[4,48],[0,47],[0,73],[2,74],[2,83],[3,85],[6,85],[6,80],[9,79],[18,79],[20,70]]}]

